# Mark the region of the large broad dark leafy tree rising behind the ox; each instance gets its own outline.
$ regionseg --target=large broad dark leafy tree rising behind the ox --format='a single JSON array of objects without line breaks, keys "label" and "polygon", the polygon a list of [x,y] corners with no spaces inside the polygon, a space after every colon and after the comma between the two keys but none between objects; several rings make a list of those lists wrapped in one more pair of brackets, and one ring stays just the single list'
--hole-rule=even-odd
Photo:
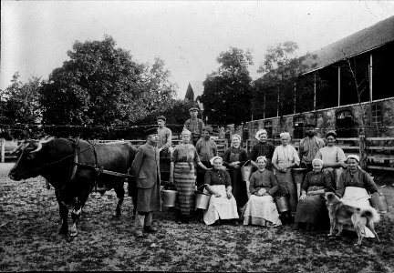
[{"label": "large broad dark leafy tree rising behind the ox", "polygon": [[44,123],[129,126],[175,94],[159,57],[139,64],[108,35],[76,41],[67,56],[41,89]]}]

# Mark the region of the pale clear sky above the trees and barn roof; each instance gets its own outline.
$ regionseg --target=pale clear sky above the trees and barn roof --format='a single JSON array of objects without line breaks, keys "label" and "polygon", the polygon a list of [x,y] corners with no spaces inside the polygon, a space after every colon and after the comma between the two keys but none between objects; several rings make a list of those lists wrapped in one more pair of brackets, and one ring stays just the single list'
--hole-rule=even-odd
[{"label": "pale clear sky above the trees and barn roof", "polygon": [[250,49],[259,76],[268,46],[313,52],[394,15],[394,1],[1,1],[0,88],[19,72],[47,79],[75,41],[111,35],[140,63],[165,61],[177,96],[230,46]]}]

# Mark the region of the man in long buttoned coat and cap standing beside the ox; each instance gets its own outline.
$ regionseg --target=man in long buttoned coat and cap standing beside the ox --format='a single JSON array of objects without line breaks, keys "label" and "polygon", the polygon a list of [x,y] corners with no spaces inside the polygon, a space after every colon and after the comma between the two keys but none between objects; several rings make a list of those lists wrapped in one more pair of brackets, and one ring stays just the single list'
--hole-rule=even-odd
[{"label": "man in long buttoned coat and cap standing beside the ox", "polygon": [[135,236],[143,237],[143,232],[153,233],[157,229],[152,227],[153,211],[161,211],[160,194],[160,153],[157,147],[157,128],[150,128],[145,132],[147,142],[140,146],[131,172],[137,181],[137,215],[135,218]]}]

